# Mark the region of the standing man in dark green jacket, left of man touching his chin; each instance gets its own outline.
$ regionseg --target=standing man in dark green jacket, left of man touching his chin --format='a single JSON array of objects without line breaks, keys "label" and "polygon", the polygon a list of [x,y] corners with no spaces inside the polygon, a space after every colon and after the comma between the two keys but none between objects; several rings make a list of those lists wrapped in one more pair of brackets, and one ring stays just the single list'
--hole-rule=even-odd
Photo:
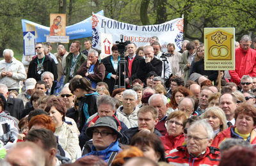
[{"label": "standing man in dark green jacket, left of man touching his chin", "polygon": [[80,52],[81,43],[80,41],[73,41],[70,46],[70,53],[66,57],[65,65],[65,81],[64,84],[69,82],[79,70],[81,64],[87,60],[87,57]]}]

